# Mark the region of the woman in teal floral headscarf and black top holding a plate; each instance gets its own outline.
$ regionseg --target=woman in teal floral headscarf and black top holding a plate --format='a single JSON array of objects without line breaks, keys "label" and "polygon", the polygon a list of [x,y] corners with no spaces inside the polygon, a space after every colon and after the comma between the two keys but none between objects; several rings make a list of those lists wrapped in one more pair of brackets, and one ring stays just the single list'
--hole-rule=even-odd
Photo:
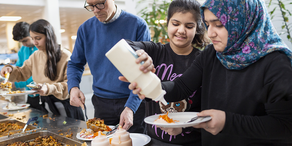
[{"label": "woman in teal floral headscarf and black top holding a plate", "polygon": [[164,98],[177,102],[202,87],[197,115],[212,117],[194,126],[203,128],[203,146],[292,145],[292,53],[265,2],[207,0],[201,8],[213,44],[181,77],[161,83]]}]

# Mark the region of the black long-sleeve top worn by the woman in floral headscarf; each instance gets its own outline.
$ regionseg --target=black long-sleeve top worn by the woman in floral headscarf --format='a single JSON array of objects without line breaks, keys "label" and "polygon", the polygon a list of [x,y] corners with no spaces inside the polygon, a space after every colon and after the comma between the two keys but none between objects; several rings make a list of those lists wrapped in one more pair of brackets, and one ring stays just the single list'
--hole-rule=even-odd
[{"label": "black long-sleeve top worn by the woman in floral headscarf", "polygon": [[217,135],[202,129],[202,145],[291,145],[292,67],[274,51],[241,70],[226,69],[213,45],[173,81],[163,82],[167,102],[182,100],[202,86],[201,108],[225,111]]}]

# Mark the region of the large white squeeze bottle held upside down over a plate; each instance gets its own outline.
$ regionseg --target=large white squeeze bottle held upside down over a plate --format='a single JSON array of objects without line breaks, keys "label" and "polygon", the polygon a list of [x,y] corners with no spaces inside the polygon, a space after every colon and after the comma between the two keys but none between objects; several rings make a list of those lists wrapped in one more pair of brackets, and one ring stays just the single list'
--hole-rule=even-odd
[{"label": "large white squeeze bottle held upside down over a plate", "polygon": [[135,62],[138,55],[124,39],[115,44],[105,56],[130,83],[137,83],[142,95],[167,105],[164,99],[166,92],[161,88],[160,79],[153,72],[143,73],[139,69],[144,62]]}]

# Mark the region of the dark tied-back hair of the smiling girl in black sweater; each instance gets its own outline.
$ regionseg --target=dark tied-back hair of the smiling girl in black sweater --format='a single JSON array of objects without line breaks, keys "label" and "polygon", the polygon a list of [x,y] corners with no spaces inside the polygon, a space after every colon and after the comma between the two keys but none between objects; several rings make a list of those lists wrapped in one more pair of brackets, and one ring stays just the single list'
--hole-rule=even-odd
[{"label": "dark tied-back hair of the smiling girl in black sweater", "polygon": [[174,13],[192,13],[193,16],[197,19],[197,30],[192,44],[203,48],[209,44],[209,39],[205,34],[206,28],[202,21],[200,6],[201,4],[196,0],[173,0],[168,8],[166,26],[168,26],[169,20]]}]

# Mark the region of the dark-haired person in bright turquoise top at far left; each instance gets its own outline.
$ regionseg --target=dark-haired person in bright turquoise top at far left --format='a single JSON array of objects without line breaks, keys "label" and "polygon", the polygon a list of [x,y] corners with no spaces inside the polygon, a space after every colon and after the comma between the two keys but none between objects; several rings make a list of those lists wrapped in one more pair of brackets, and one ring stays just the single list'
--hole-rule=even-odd
[{"label": "dark-haired person in bright turquoise top at far left", "polygon": [[[15,65],[21,67],[23,62],[29,58],[37,48],[33,44],[33,40],[29,35],[29,24],[26,22],[18,22],[13,27],[13,39],[15,41],[19,41],[22,43],[22,47],[18,51],[18,60],[16,61]],[[31,83],[32,77],[30,77],[27,81],[22,82],[14,82],[12,86],[15,88],[26,88],[26,90],[30,90],[27,88],[27,84]],[[41,106],[39,105],[39,98],[34,98],[37,95],[28,95],[27,103],[30,104],[30,107],[36,108],[41,110]]]}]

